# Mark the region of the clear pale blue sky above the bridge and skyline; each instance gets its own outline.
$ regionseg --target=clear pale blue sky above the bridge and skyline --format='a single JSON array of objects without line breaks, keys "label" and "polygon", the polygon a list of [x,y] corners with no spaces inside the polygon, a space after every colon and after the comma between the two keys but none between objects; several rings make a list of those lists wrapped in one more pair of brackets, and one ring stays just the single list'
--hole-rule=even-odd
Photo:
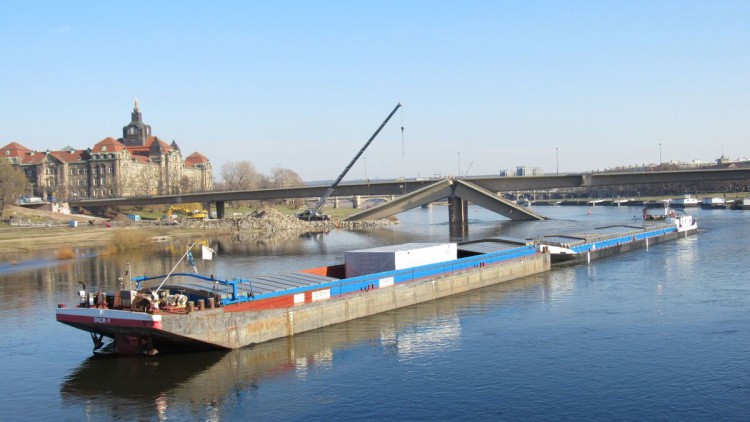
[{"label": "clear pale blue sky above the bridge and skyline", "polygon": [[750,1],[5,1],[0,46],[2,145],[138,98],[216,173],[333,179],[397,102],[346,180],[750,156]]}]

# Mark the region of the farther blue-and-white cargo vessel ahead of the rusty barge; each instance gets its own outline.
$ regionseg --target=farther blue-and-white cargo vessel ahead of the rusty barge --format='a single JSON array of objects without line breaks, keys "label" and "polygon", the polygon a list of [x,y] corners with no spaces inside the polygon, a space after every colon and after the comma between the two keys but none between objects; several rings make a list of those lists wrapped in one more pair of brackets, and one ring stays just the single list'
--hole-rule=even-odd
[{"label": "farther blue-and-white cargo vessel ahead of the rusty barge", "polygon": [[[644,213],[644,219],[646,214]],[[649,219],[647,219],[649,220]],[[658,223],[644,226],[613,225],[598,227],[592,233],[547,235],[537,241],[539,248],[552,255],[552,265],[571,265],[616,255],[633,249],[687,237],[698,232],[690,215],[671,212]]]}]

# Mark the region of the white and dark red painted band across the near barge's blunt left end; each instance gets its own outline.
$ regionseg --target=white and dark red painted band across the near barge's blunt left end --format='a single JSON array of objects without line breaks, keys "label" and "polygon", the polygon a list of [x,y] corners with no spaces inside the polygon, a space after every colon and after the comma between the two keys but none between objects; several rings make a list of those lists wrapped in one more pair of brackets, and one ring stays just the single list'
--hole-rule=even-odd
[{"label": "white and dark red painted band across the near barge's blunt left end", "polygon": [[161,315],[96,308],[57,309],[57,320],[75,324],[161,329]]}]

